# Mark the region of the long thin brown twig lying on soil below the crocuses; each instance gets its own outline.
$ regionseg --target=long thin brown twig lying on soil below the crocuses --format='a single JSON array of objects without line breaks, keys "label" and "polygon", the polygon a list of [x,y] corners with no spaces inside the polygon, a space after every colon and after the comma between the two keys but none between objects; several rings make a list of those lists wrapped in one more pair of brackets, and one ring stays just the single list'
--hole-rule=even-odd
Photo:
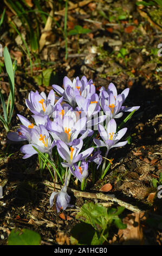
[{"label": "long thin brown twig lying on soil below the crocuses", "polygon": [[[50,182],[50,181],[44,181],[43,182],[44,185],[47,186],[51,186],[51,189],[53,190],[53,186],[54,186],[54,182]],[[61,186],[60,184],[56,184],[55,185],[57,189],[61,190],[61,188],[63,186]],[[77,191],[74,190],[73,188],[67,188],[68,191],[72,191],[74,193],[75,197],[85,197],[85,198],[93,198],[93,199],[100,199],[100,200],[104,200],[104,201],[112,201],[113,203],[117,203],[120,206],[124,206],[126,209],[133,211],[133,212],[144,212],[142,210],[140,210],[137,206],[134,206],[132,204],[128,204],[118,198],[112,197],[110,195],[107,194],[103,194],[103,193],[89,193],[89,192],[82,192],[82,191]]]}]

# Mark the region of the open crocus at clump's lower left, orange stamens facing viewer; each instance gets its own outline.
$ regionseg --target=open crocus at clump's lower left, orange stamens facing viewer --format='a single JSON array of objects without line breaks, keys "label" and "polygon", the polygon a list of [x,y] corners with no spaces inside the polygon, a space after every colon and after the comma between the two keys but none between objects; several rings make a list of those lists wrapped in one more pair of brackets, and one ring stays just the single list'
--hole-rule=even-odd
[{"label": "open crocus at clump's lower left, orange stamens facing viewer", "polygon": [[37,151],[33,148],[34,146],[42,153],[48,153],[51,160],[53,160],[52,149],[56,143],[51,140],[50,134],[44,125],[35,126],[35,129],[30,131],[30,136],[30,144],[23,145],[20,149],[22,153],[25,154],[23,159],[37,154]]}]

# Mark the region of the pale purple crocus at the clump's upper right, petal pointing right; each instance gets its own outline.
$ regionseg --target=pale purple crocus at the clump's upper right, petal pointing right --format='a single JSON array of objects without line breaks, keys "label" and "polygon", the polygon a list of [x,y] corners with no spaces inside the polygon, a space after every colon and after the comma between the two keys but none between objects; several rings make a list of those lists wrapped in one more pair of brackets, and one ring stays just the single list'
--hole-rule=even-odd
[{"label": "pale purple crocus at the clump's upper right, petal pointing right", "polygon": [[132,112],[138,110],[140,106],[125,107],[122,106],[128,96],[129,88],[126,88],[121,94],[117,93],[116,87],[110,83],[106,91],[105,87],[100,89],[100,105],[109,119],[122,117],[122,112]]}]

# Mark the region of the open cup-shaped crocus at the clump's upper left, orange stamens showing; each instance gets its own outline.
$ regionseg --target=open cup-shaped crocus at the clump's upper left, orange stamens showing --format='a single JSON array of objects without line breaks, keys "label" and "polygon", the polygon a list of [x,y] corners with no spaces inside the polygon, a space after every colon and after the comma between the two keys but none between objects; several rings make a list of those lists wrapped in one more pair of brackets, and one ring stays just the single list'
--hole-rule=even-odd
[{"label": "open cup-shaped crocus at the clump's upper left, orange stamens showing", "polygon": [[50,90],[48,97],[44,92],[39,94],[37,91],[30,92],[28,99],[26,100],[26,105],[30,111],[34,114],[48,115],[51,117],[51,114],[54,112],[57,103],[60,103],[63,100],[63,97],[55,103],[55,93],[53,90]]}]

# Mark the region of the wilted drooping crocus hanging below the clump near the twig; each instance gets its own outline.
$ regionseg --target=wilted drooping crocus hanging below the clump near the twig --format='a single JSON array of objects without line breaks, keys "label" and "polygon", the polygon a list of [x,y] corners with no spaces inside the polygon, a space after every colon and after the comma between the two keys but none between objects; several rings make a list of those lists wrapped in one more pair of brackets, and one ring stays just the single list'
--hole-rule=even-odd
[{"label": "wilted drooping crocus hanging below the clump near the twig", "polygon": [[64,185],[60,192],[53,192],[49,198],[50,207],[54,205],[54,197],[56,196],[56,209],[59,212],[61,209],[66,210],[67,207],[73,207],[69,204],[70,196],[67,193],[67,186]]}]

